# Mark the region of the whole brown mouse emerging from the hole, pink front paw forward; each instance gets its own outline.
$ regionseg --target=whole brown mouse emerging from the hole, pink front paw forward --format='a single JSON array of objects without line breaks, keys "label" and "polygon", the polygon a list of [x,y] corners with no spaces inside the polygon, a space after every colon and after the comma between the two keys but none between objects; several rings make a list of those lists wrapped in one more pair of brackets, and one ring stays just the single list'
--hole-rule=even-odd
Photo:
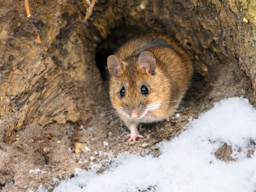
[{"label": "whole brown mouse emerging from the hole, pink front paw forward", "polygon": [[143,138],[139,123],[172,115],[193,75],[193,64],[173,38],[147,34],[126,42],[108,57],[110,100],[131,130],[129,143]]}]

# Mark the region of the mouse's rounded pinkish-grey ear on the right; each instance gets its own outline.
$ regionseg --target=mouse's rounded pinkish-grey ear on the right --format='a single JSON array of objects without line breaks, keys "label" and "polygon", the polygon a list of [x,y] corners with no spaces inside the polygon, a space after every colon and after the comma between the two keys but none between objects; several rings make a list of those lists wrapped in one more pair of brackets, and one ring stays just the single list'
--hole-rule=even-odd
[{"label": "mouse's rounded pinkish-grey ear on the right", "polygon": [[138,64],[141,69],[145,68],[147,74],[153,74],[156,71],[156,59],[154,58],[153,53],[149,51],[143,51],[140,53]]}]

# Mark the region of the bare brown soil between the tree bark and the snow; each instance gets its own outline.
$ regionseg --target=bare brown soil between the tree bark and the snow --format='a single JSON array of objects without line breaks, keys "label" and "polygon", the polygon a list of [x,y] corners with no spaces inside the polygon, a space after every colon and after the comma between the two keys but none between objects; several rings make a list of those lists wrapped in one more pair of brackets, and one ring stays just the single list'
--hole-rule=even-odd
[{"label": "bare brown soil between the tree bark and the snow", "polygon": [[[129,152],[158,156],[156,143],[177,137],[184,130],[188,118],[197,118],[221,99],[242,96],[256,106],[251,82],[237,63],[210,66],[208,82],[195,74],[176,112],[180,117],[174,115],[160,123],[142,125],[139,131],[145,137],[135,145],[129,145],[125,140],[128,130],[113,113],[105,93],[99,99],[97,114],[86,127],[72,122],[64,125],[51,123],[45,127],[37,123],[28,124],[26,129],[16,133],[16,141],[11,145],[1,142],[0,189],[36,191],[41,185],[51,191],[59,180],[72,177],[76,167],[89,169],[92,162],[104,162],[109,155]],[[3,134],[1,130],[0,137]],[[230,160],[225,157],[230,153],[217,154],[219,159]]]}]

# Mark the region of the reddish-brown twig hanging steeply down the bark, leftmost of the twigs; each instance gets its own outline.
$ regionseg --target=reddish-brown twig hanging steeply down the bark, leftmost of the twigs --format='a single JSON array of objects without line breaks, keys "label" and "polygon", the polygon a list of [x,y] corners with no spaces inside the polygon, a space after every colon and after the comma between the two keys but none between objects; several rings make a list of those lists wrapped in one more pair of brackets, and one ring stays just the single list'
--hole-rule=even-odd
[{"label": "reddish-brown twig hanging steeply down the bark, leftmost of the twigs", "polygon": [[[25,13],[22,9],[22,6],[19,4],[19,1],[18,0],[13,0],[13,2],[14,2],[14,6],[15,6],[16,11],[18,12],[19,17],[22,20],[25,20],[26,15],[25,15]],[[36,43],[36,46],[38,48],[38,51],[39,51],[40,55],[45,55],[46,54],[45,47],[42,44],[40,34],[36,31],[35,26],[33,26],[30,22],[27,22],[26,25],[27,25],[27,27],[30,28],[30,32],[32,33],[32,35],[34,37],[34,40],[35,40],[35,43]]]}]

